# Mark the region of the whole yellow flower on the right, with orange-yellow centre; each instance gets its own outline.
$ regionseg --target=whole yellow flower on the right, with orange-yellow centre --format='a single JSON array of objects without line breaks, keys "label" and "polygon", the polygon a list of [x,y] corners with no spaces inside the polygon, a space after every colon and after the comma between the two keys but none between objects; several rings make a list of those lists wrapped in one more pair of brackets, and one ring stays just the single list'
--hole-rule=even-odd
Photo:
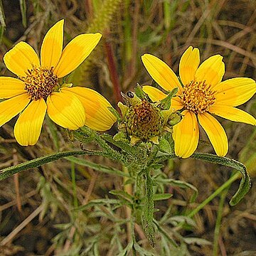
[{"label": "whole yellow flower on the right, with orange-yellow centre", "polygon": [[[256,119],[236,108],[247,102],[256,92],[255,81],[250,78],[232,78],[221,82],[225,65],[221,55],[213,55],[200,63],[198,48],[192,46],[181,56],[179,82],[174,71],[154,55],[142,55],[146,70],[164,90],[178,87],[177,96],[171,100],[171,107],[181,110],[183,119],[174,126],[174,150],[176,156],[189,157],[196,150],[199,139],[198,122],[206,131],[218,156],[228,152],[228,138],[225,130],[211,114],[235,122],[256,125]],[[161,100],[166,95],[161,90],[144,86],[151,100]]]}]

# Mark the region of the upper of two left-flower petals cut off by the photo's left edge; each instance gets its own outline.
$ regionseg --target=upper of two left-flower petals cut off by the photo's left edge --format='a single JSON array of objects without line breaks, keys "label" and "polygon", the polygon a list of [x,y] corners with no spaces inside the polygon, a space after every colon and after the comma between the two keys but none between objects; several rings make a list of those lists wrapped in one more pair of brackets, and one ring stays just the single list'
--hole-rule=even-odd
[{"label": "upper of two left-flower petals cut off by the photo's left edge", "polygon": [[24,82],[16,78],[0,77],[0,99],[8,99],[26,93]]}]

